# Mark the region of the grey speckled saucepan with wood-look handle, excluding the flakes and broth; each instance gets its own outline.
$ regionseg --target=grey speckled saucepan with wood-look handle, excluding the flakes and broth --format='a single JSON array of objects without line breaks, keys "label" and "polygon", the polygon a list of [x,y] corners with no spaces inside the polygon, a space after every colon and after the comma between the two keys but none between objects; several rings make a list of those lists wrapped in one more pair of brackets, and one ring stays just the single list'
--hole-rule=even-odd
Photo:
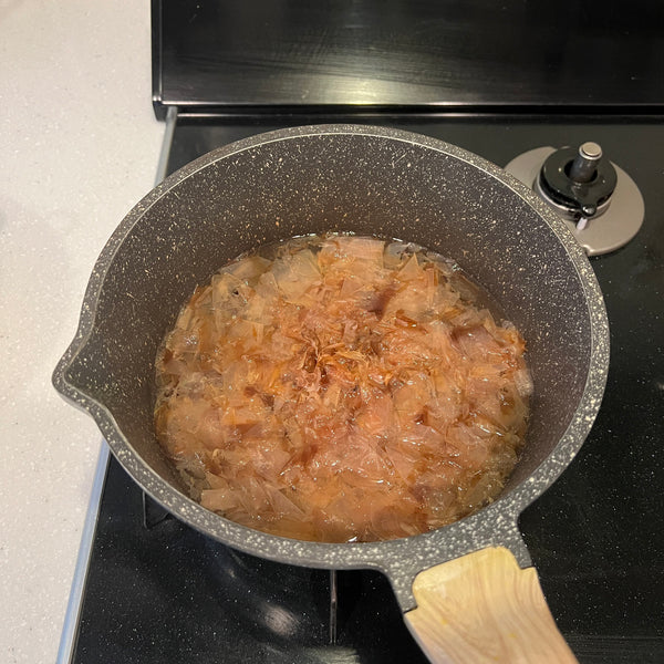
[{"label": "grey speckled saucepan with wood-look handle, excluding the flakes and broth", "polygon": [[[454,258],[522,332],[535,383],[527,444],[501,495],[438,530],[320,543],[234,523],[190,500],[153,429],[157,347],[196,284],[258,245],[321,231],[400,238]],[[289,128],[214,151],[151,191],[100,256],[54,385],[173,515],[255,556],[391,580],[432,661],[564,662],[517,527],[570,464],[609,363],[602,295],[564,224],[497,166],[437,139],[353,125]]]}]

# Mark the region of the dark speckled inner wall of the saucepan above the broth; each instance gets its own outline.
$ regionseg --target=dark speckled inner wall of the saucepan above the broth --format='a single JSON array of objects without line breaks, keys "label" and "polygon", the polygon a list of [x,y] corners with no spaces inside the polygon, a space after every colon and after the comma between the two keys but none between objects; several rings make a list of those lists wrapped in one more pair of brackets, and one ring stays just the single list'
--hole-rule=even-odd
[{"label": "dark speckled inner wall of the saucepan above the broth", "polygon": [[518,185],[412,135],[291,132],[240,145],[169,178],[129,214],[123,241],[97,264],[105,277],[94,325],[65,380],[111,413],[117,432],[104,433],[121,463],[136,454],[181,490],[153,432],[154,362],[195,286],[258,245],[335,230],[454,258],[521,330],[535,396],[527,446],[504,494],[528,478],[578,407],[592,340],[568,249]]}]

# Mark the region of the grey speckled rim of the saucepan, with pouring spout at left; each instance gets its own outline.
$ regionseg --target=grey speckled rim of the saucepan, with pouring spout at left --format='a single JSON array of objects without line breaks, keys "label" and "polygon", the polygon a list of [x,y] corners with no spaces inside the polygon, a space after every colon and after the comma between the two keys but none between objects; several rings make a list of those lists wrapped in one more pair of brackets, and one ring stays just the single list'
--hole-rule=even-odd
[{"label": "grey speckled rim of the saucepan, with pouring spout at left", "polygon": [[[507,495],[470,517],[427,533],[380,542],[326,543],[282,538],[229,521],[203,508],[162,479],[120,433],[111,412],[66,378],[68,369],[84,351],[93,332],[98,294],[117,249],[157,200],[181,181],[220,159],[268,143],[322,135],[362,135],[404,142],[453,156],[483,170],[511,189],[546,221],[563,246],[583,288],[591,326],[590,364],[581,400],[564,434],[538,468]],[[567,225],[536,194],[495,164],[437,138],[390,127],[323,124],[277,129],[225,145],[185,165],[149,191],[126,215],[102,250],[83,299],[75,338],[53,373],[53,384],[66,400],[86,411],[96,421],[114,455],[133,479],[157,502],[189,526],[236,549],[263,558],[330,569],[376,568],[394,578],[402,575],[397,568],[401,569],[404,559],[407,559],[408,573],[412,573],[495,543],[508,544],[517,553],[521,564],[528,564],[529,558],[520,543],[516,526],[517,518],[558,478],[577,455],[600,408],[608,369],[609,323],[594,272]]]}]

